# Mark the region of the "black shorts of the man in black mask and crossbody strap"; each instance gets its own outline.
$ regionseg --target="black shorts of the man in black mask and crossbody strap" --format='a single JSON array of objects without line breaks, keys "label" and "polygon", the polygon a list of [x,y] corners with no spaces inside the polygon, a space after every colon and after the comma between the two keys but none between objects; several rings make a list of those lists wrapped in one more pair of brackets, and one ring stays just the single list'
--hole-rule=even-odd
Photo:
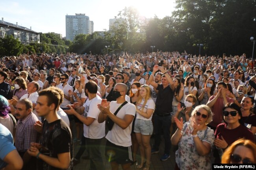
[{"label": "black shorts of the man in black mask and crossbody strap", "polygon": [[117,146],[107,140],[105,156],[109,162],[116,162],[121,165],[132,163],[132,146]]}]

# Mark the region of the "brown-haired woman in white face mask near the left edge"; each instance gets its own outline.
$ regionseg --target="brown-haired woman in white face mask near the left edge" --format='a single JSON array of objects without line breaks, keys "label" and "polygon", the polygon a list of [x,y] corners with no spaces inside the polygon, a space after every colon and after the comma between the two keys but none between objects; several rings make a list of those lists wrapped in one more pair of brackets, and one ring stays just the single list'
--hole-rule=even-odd
[{"label": "brown-haired woman in white face mask near the left edge", "polygon": [[14,80],[14,83],[15,83],[14,84],[15,89],[13,90],[13,97],[19,100],[23,95],[28,93],[27,84],[22,77],[17,77]]}]

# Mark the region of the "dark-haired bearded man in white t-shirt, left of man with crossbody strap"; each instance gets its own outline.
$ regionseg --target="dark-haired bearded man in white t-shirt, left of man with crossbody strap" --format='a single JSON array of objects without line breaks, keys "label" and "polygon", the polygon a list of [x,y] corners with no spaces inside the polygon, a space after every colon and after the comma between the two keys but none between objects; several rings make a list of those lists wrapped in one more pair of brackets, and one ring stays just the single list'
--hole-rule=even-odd
[{"label": "dark-haired bearded man in white t-shirt, left of man with crossbody strap", "polygon": [[[82,107],[77,108],[76,112],[69,105],[70,110],[65,110],[66,113],[76,116],[83,122],[83,137],[82,146],[85,144],[89,152],[90,169],[103,170],[103,160],[100,153],[100,144],[105,136],[105,123],[98,123],[98,115],[100,110],[97,105],[101,103],[101,98],[96,94],[98,86],[95,82],[89,81],[85,84],[85,95],[88,97]],[[83,113],[83,115],[81,115]],[[84,151],[82,149],[82,151]],[[79,154],[79,153],[78,153]],[[76,158],[78,155],[76,155]],[[76,160],[75,161],[78,161]],[[79,159],[79,158],[78,158]]]}]

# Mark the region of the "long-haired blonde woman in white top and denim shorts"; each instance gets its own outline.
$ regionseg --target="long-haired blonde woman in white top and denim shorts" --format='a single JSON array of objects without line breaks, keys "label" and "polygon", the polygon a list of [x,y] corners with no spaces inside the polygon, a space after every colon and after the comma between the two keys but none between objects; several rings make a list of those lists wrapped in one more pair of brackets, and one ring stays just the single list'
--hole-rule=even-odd
[{"label": "long-haired blonde woman in white top and denim shorts", "polygon": [[143,170],[150,167],[151,146],[150,137],[153,133],[152,114],[155,109],[155,103],[151,99],[151,89],[148,85],[143,85],[139,91],[139,99],[136,102],[136,119],[134,132],[139,143],[141,153],[141,163],[137,168],[142,168],[146,155],[146,166]]}]

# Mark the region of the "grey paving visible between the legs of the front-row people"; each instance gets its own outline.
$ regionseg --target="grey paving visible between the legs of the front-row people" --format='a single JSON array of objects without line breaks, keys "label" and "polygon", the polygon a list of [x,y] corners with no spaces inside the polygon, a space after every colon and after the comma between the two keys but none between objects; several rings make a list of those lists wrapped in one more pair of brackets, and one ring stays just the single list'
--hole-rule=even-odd
[{"label": "grey paving visible between the legs of the front-row people", "polygon": [[[106,143],[106,139],[104,138],[102,140],[102,147],[100,147],[100,150],[101,150],[101,153],[102,153],[102,158],[103,158],[103,161],[104,161],[105,170],[111,170],[111,165],[106,160],[106,158],[104,156],[105,143]],[[151,139],[150,140],[151,146],[153,146],[153,143],[154,143],[154,139]],[[74,143],[74,156],[78,152],[79,148],[80,148],[79,142]],[[171,147],[171,157],[169,159],[167,159],[166,161],[160,161],[160,158],[161,158],[161,156],[163,155],[163,152],[164,152],[164,140],[163,140],[163,136],[161,136],[161,144],[160,144],[160,148],[159,148],[160,152],[151,155],[150,170],[174,170],[175,154],[174,154],[172,148],[173,147]],[[86,155],[86,151],[82,156],[84,156],[84,155]],[[137,155],[137,161],[138,161],[138,163],[140,163],[139,150],[138,150],[138,155]],[[81,157],[80,163],[77,164],[76,166],[74,166],[74,170],[89,170],[90,169],[89,164],[90,164],[89,159],[82,159],[82,157]],[[139,170],[139,169],[136,168],[135,164],[131,166],[131,169],[132,170]],[[143,168],[141,168],[141,170],[142,169]],[[119,170],[122,170],[121,165],[119,166]]]}]

